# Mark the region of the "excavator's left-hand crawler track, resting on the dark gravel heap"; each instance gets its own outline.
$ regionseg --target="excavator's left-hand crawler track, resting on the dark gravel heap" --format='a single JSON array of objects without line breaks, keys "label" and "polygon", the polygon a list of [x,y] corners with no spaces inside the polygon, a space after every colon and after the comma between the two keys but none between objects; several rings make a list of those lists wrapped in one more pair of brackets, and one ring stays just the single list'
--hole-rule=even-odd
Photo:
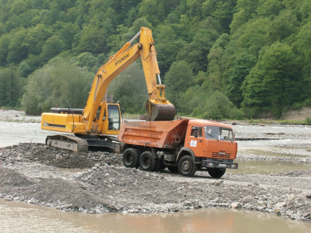
[{"label": "excavator's left-hand crawler track, resting on the dark gravel heap", "polygon": [[73,135],[49,135],[45,139],[45,144],[53,147],[72,150],[74,152],[88,152],[87,141]]}]

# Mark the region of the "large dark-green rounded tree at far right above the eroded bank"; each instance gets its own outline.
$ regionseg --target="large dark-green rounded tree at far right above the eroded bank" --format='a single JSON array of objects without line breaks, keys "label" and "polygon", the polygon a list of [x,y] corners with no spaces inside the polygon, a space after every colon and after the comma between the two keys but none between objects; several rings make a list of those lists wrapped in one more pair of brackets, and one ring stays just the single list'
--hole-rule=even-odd
[{"label": "large dark-green rounded tree at far right above the eroded bank", "polygon": [[262,48],[258,63],[245,78],[242,106],[249,117],[272,111],[281,117],[283,108],[299,101],[299,64],[289,45],[276,42]]}]

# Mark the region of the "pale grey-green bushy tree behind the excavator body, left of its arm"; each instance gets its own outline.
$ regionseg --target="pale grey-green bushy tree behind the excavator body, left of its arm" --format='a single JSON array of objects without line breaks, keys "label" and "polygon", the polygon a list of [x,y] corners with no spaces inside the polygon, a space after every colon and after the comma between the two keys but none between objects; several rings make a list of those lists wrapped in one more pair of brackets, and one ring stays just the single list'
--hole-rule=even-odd
[{"label": "pale grey-green bushy tree behind the excavator body, left of its arm", "polygon": [[27,114],[34,115],[49,112],[55,104],[67,107],[67,100],[72,108],[83,108],[93,79],[94,74],[85,68],[56,57],[30,75],[22,107]]}]

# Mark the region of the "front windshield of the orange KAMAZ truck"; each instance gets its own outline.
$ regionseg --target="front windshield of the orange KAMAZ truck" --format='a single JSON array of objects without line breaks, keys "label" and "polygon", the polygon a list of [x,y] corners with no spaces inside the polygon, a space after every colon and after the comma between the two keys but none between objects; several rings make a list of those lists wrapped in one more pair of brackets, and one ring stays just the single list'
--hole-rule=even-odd
[{"label": "front windshield of the orange KAMAZ truck", "polygon": [[232,129],[218,126],[204,126],[205,138],[233,141]]}]

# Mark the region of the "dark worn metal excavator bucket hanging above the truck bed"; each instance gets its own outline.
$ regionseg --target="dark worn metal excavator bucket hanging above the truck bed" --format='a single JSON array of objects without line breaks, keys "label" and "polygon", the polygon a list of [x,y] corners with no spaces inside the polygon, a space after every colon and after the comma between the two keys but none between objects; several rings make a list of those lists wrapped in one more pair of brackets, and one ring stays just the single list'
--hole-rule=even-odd
[{"label": "dark worn metal excavator bucket hanging above the truck bed", "polygon": [[153,103],[151,100],[147,100],[146,109],[147,121],[171,121],[176,115],[175,106],[169,101]]}]

